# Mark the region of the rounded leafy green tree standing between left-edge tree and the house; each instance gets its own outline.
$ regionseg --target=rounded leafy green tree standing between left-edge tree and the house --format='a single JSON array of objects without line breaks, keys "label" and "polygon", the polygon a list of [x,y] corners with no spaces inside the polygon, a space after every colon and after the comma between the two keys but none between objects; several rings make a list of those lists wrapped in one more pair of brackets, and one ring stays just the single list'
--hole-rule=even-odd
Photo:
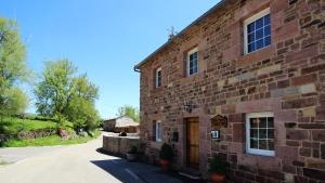
[{"label": "rounded leafy green tree standing between left-edge tree and the house", "polygon": [[37,110],[46,116],[63,115],[76,130],[91,130],[99,121],[94,107],[99,89],[87,75],[76,74],[77,67],[68,60],[47,62],[35,90]]}]

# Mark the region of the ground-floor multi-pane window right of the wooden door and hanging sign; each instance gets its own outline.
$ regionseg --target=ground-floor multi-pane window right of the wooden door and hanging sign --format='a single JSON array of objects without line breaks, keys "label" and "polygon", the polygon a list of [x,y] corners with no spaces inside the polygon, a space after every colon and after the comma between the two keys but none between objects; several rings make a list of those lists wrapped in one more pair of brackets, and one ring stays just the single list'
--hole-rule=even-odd
[{"label": "ground-floor multi-pane window right of the wooden door and hanging sign", "polygon": [[274,156],[274,117],[272,113],[252,113],[246,116],[247,153]]}]

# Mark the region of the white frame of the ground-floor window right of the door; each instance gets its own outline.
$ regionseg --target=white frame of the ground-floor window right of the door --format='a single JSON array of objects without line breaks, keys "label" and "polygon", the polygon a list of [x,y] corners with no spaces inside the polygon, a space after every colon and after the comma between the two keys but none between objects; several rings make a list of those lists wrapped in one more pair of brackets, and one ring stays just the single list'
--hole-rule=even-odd
[{"label": "white frame of the ground-floor window right of the door", "polygon": [[[274,121],[274,114],[271,112],[246,114],[246,152],[248,154],[261,155],[261,156],[274,156],[275,155],[275,151],[250,148],[250,122],[249,122],[249,119],[250,118],[264,118],[264,117],[273,117],[273,121]],[[275,143],[275,135],[274,135],[274,143]]]}]

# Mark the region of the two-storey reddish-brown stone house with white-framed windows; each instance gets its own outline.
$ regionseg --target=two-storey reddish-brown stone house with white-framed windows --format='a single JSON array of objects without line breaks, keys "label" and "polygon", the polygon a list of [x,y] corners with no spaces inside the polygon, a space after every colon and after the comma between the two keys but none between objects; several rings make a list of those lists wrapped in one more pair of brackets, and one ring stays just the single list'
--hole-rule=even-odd
[{"label": "two-storey reddish-brown stone house with white-framed windows", "polygon": [[223,0],[139,63],[147,160],[167,142],[178,169],[204,177],[218,154],[229,182],[324,181],[324,12]]}]

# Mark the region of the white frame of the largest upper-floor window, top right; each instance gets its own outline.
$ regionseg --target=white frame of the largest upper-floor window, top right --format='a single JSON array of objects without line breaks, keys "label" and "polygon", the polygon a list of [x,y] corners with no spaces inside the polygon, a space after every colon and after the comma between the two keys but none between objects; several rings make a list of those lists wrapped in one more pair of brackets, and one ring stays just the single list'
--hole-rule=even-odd
[{"label": "white frame of the largest upper-floor window, top right", "polygon": [[[261,12],[259,12],[259,13],[257,13],[257,14],[255,14],[255,15],[252,15],[249,18],[247,18],[247,19],[244,21],[244,54],[249,54],[249,53],[252,53],[252,52],[261,50],[261,49],[259,49],[259,50],[255,50],[255,51],[248,53],[247,26],[250,23],[256,22],[257,19],[259,19],[259,18],[261,18],[261,17],[263,17],[263,16],[265,16],[268,14],[270,14],[270,8],[265,9],[265,10],[263,10],[263,11],[261,11]],[[271,32],[271,39],[272,39],[272,32]],[[268,45],[268,47],[270,47],[270,45]],[[268,47],[264,47],[264,48],[268,48]],[[262,48],[262,49],[264,49],[264,48]]]}]

